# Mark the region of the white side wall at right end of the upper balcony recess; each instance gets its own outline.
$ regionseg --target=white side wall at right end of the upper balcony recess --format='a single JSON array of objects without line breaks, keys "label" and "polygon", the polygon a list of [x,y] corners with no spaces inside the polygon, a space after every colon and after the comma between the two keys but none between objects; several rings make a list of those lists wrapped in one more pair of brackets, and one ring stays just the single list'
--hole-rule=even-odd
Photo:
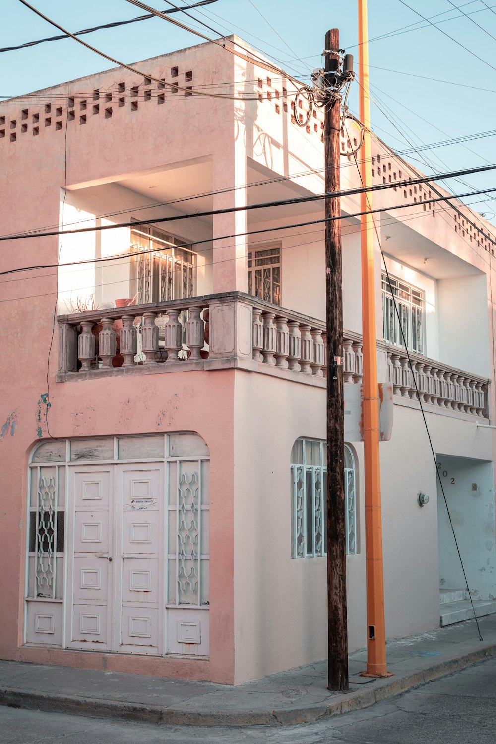
[{"label": "white side wall at right end of the upper balcony recess", "polygon": [[486,275],[439,279],[439,359],[489,377]]}]

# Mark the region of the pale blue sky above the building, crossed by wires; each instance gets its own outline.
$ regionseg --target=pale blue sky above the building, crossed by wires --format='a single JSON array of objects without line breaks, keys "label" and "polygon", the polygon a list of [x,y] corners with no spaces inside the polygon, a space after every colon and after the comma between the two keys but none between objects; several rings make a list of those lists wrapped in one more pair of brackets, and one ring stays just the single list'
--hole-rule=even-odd
[{"label": "pale blue sky above the building, crossed by wires", "polygon": [[[192,2],[173,0],[182,6]],[[30,0],[30,4],[73,32],[144,15],[126,0]],[[147,4],[158,10],[170,8],[165,0]],[[1,6],[1,48],[59,33],[19,0],[2,0]],[[303,83],[322,65],[329,28],[339,29],[341,47],[355,55],[355,68],[358,62],[356,0],[217,0],[190,13],[218,36],[241,36]],[[216,37],[182,13],[173,17]],[[393,150],[410,150],[405,157],[424,173],[495,162],[496,0],[369,0],[368,18],[371,120],[376,134]],[[201,41],[158,18],[83,39],[126,63]],[[113,66],[73,39],[3,52],[0,62],[0,97],[24,95]],[[356,83],[350,109],[358,114]],[[463,142],[451,142],[460,138]],[[420,151],[411,152],[412,147]],[[451,193],[492,188],[495,173],[471,174],[444,185]],[[464,201],[496,225],[496,192]]]}]

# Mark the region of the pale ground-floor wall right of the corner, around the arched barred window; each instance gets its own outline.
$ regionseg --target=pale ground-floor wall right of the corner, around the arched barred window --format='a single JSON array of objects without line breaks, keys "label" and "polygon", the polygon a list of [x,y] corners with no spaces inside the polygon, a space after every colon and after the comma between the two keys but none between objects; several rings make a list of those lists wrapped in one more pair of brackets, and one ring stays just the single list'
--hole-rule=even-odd
[{"label": "pale ground-floor wall right of the corner, around the arched barred window", "polygon": [[[326,559],[292,559],[289,457],[297,437],[325,438],[325,391],[236,372],[234,612],[236,682],[326,656]],[[427,413],[437,449],[491,457],[492,434],[451,411]],[[363,445],[355,443],[359,554],[347,559],[350,650],[366,644]],[[439,625],[436,466],[422,414],[394,406],[381,444],[388,638]],[[420,508],[422,490],[431,496]],[[489,529],[489,527],[488,527]],[[494,535],[494,522],[492,523]],[[489,539],[489,537],[487,538]]]}]

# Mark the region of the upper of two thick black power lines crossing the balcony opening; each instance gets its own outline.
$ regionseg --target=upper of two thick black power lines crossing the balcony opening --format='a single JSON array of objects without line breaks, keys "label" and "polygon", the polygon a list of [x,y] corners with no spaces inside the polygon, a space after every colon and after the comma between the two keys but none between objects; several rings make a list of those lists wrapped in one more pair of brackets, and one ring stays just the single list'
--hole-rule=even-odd
[{"label": "upper of two thick black power lines crossing the balcony opening", "polygon": [[[410,187],[413,185],[422,184],[425,182],[429,182],[433,180],[434,178],[437,179],[447,179],[447,178],[454,178],[455,176],[463,176],[468,173],[483,173],[488,170],[496,170],[496,164],[495,165],[486,165],[481,166],[478,168],[468,168],[464,170],[454,170],[449,173],[440,173],[437,174],[437,176],[419,176],[416,179],[402,179],[401,181],[396,182],[390,182],[390,183],[382,183],[382,184],[376,184],[370,189],[367,189],[367,191],[384,191],[391,188],[404,188],[404,187]],[[240,207],[227,207],[224,209],[215,209],[215,210],[207,210],[204,212],[196,212],[195,214],[178,214],[174,215],[173,217],[158,217],[158,218],[152,218],[152,219],[143,219],[140,220],[141,225],[152,225],[152,224],[159,224],[163,222],[175,222],[182,219],[191,219],[192,217],[199,218],[199,217],[213,217],[219,214],[233,214],[236,212],[244,212],[244,211],[253,211],[255,209],[266,209],[271,207],[280,207],[280,206],[292,206],[295,204],[305,204],[308,202],[317,202],[321,201],[322,199],[337,199],[337,198],[343,198],[346,196],[355,196],[359,193],[362,193],[364,191],[363,188],[352,188],[352,189],[346,189],[341,190],[338,192],[332,192],[332,193],[322,193],[322,194],[312,194],[312,196],[294,196],[292,199],[279,199],[272,202],[260,202],[257,204],[251,204],[251,205],[244,205]],[[476,194],[480,193],[490,193],[492,191],[496,191],[495,189],[487,189],[487,190],[480,190],[480,191],[473,191],[470,193],[465,194],[458,194],[458,195],[451,195],[451,196],[444,196],[443,199],[462,199],[465,196],[474,196]],[[422,200],[423,204],[427,204],[428,199]],[[391,206],[388,208],[384,208],[384,210],[381,211],[388,211],[390,209],[398,209],[403,208],[404,206],[408,205],[399,205],[399,206]],[[356,217],[357,215],[352,215],[352,217]],[[37,233],[21,233],[21,234],[15,234],[15,235],[4,235],[0,237],[1,240],[24,240],[25,238],[30,237],[51,237],[53,235],[61,235],[61,234],[75,234],[75,233],[85,233],[85,232],[100,232],[105,230],[113,230],[116,228],[121,227],[132,227],[132,225],[135,224],[135,220],[129,221],[129,222],[116,222],[112,225],[94,225],[88,228],[74,228],[72,230],[51,230],[51,231],[45,231],[45,232],[37,232]],[[306,224],[306,223],[305,223]],[[309,224],[313,224],[310,222]],[[480,228],[477,228],[480,232],[483,232],[480,230]],[[492,240],[492,242],[495,242],[492,238],[489,238],[488,240]],[[185,243],[185,245],[189,245],[189,243]]]}]

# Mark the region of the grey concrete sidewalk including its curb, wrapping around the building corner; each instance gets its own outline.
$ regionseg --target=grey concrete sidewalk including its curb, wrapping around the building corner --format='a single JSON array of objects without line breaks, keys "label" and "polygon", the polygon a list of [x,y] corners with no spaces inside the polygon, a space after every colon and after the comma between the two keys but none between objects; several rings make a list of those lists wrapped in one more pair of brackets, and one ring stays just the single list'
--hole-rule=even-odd
[{"label": "grey concrete sidewalk including its curb, wrapping around the building corner", "polygon": [[0,661],[0,704],[163,724],[290,725],[367,708],[468,664],[496,655],[496,615],[387,644],[394,676],[369,679],[367,652],[350,655],[350,692],[329,693],[326,662],[239,687],[138,674]]}]

